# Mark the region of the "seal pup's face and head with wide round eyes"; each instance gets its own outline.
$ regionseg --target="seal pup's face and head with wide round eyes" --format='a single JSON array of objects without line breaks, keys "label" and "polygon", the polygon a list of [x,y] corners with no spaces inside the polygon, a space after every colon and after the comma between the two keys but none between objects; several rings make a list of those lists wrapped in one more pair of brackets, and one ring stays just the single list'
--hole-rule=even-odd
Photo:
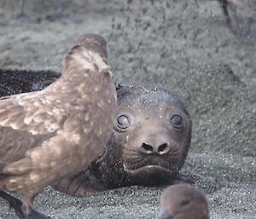
[{"label": "seal pup's face and head with wide round eyes", "polygon": [[120,87],[115,135],[132,184],[170,182],[187,155],[192,123],[182,101],[160,87]]}]

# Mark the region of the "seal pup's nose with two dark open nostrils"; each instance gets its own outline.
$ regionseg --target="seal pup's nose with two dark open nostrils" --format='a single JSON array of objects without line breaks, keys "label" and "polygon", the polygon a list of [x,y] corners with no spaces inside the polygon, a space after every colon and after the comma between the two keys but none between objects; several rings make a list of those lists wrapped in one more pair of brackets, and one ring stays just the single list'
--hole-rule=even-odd
[{"label": "seal pup's nose with two dark open nostrils", "polygon": [[153,143],[153,144],[148,144],[143,142],[141,145],[141,152],[143,153],[159,153],[159,154],[165,154],[170,151],[170,146],[167,142],[164,143]]}]

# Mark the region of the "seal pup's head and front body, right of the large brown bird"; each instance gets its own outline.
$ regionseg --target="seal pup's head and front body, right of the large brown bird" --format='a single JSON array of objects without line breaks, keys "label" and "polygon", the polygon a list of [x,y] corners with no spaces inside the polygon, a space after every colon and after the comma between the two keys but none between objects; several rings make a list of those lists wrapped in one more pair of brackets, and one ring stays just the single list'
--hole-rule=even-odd
[{"label": "seal pup's head and front body, right of the large brown bird", "polygon": [[170,185],[177,180],[191,141],[183,102],[159,86],[117,84],[118,113],[103,155],[52,186],[75,196],[131,185]]}]

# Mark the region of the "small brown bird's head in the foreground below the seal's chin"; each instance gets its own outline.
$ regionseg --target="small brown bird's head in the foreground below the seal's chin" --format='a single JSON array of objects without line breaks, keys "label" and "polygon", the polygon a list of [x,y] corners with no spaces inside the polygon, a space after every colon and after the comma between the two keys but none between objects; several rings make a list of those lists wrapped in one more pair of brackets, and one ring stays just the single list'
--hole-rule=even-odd
[{"label": "small brown bird's head in the foreground below the seal's chin", "polygon": [[156,219],[209,219],[207,199],[189,184],[172,185],[161,195]]}]

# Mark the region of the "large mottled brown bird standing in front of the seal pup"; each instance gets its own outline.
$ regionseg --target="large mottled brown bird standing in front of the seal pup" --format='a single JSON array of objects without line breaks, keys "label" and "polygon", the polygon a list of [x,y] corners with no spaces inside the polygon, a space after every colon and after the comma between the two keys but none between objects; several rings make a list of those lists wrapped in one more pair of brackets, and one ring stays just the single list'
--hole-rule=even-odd
[{"label": "large mottled brown bird standing in front of the seal pup", "polygon": [[37,193],[86,168],[108,142],[117,100],[106,44],[80,37],[55,83],[1,98],[0,190],[22,196],[20,218],[32,218]]}]

